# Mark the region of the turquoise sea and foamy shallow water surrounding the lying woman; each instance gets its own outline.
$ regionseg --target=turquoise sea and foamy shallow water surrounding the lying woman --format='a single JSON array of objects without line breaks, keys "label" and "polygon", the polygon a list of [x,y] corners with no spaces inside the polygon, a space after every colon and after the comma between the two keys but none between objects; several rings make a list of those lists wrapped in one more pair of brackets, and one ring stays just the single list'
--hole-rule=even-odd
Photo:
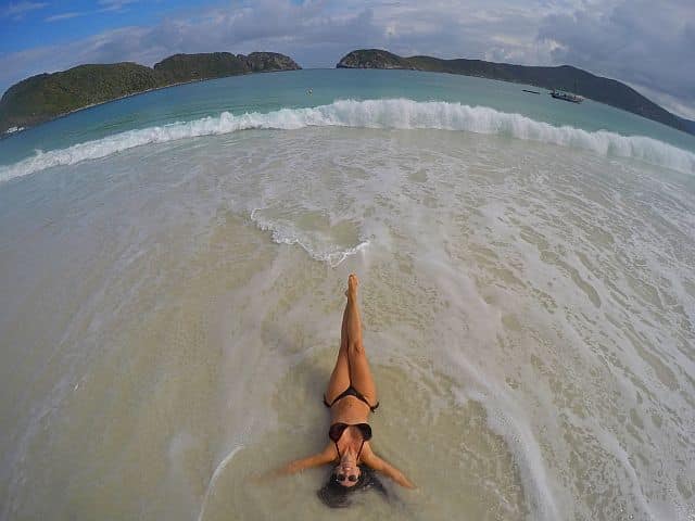
[{"label": "turquoise sea and foamy shallow water surrounding the lying woman", "polygon": [[[0,140],[0,519],[695,519],[695,137],[525,86],[299,71]],[[311,90],[309,90],[311,89]],[[348,274],[417,485],[344,511]]]}]

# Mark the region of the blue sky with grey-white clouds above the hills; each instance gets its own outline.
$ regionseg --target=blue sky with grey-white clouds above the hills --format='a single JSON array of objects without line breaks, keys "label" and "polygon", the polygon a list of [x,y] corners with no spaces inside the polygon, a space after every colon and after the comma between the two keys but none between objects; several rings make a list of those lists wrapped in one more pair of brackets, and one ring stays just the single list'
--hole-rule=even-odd
[{"label": "blue sky with grey-white clouds above the hills", "polygon": [[365,48],[574,65],[695,118],[695,0],[0,0],[0,92],[81,63],[275,51],[333,67]]}]

